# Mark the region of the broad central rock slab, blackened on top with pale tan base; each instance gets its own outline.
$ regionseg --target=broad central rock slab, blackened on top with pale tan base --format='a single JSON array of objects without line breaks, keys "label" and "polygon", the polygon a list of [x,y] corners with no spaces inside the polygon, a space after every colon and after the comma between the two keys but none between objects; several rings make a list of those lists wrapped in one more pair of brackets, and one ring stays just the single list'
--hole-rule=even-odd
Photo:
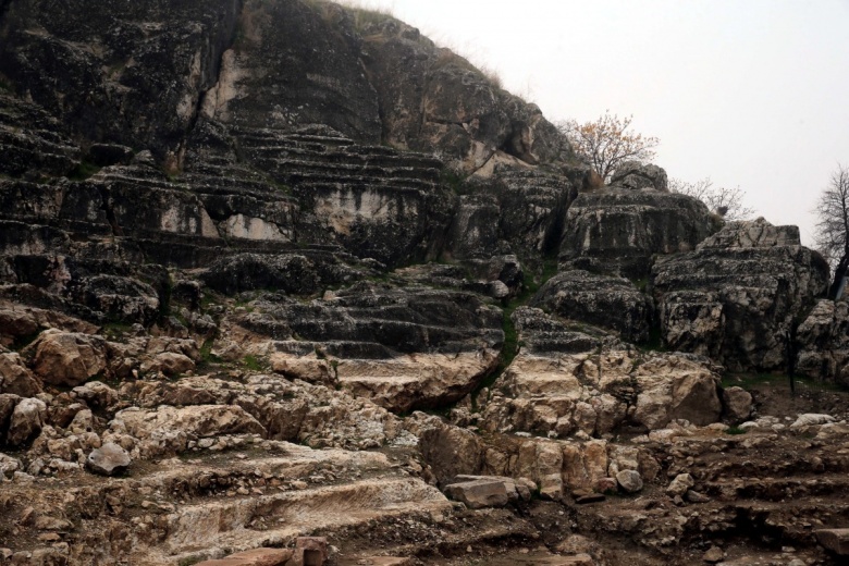
[{"label": "broad central rock slab, blackened on top with pale tan base", "polygon": [[395,411],[452,403],[492,371],[501,311],[471,293],[360,282],[309,303],[260,296],[221,348],[269,355],[290,378],[339,385]]}]

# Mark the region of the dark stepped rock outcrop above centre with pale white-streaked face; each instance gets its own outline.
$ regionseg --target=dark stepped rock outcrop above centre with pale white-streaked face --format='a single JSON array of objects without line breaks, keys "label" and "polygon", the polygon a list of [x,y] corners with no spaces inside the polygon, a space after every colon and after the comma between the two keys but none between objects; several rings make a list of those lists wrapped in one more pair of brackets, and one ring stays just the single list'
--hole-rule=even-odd
[{"label": "dark stepped rock outcrop above centre with pale white-streaked face", "polygon": [[241,151],[297,200],[296,238],[386,264],[444,245],[454,199],[430,155],[357,145],[328,127],[236,134]]}]

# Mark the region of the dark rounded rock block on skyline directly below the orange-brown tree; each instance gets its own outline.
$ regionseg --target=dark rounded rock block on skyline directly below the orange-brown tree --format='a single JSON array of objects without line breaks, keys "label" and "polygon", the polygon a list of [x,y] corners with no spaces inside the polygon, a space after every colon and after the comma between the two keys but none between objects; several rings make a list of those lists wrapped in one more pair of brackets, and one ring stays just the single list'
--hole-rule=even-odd
[{"label": "dark rounded rock block on skyline directly below the orange-brown tree", "polygon": [[605,188],[569,207],[561,261],[578,269],[647,279],[655,254],[691,251],[713,231],[707,207],[675,193]]}]

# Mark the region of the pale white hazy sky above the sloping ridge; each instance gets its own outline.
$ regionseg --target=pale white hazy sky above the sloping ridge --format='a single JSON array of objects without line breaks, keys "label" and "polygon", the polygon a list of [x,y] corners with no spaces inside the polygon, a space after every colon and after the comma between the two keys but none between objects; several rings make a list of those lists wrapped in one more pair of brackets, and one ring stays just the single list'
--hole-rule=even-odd
[{"label": "pale white hazy sky above the sloping ridge", "polygon": [[360,0],[502,77],[549,120],[606,109],[670,177],[739,186],[812,244],[849,165],[849,0]]}]

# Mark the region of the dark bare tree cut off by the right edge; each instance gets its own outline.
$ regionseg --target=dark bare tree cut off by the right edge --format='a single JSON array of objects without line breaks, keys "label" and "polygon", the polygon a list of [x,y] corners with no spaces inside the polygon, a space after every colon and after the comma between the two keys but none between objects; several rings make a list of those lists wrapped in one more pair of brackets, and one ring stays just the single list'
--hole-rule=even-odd
[{"label": "dark bare tree cut off by the right edge", "polygon": [[849,269],[849,169],[838,164],[816,202],[816,247],[834,269],[828,296],[835,298]]}]

